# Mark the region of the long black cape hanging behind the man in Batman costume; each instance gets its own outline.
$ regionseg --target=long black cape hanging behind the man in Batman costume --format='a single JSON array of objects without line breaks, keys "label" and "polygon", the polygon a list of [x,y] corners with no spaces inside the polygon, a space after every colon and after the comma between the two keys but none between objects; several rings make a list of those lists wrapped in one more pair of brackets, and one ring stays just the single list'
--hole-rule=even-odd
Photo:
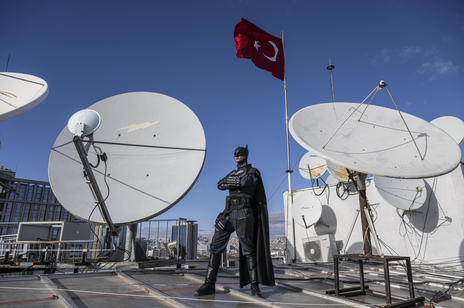
[{"label": "long black cape hanging behind the man in Batman costume", "polygon": [[[254,243],[256,248],[256,264],[258,267],[258,282],[265,286],[275,286],[274,269],[271,260],[271,249],[269,247],[269,217],[267,213],[266,193],[264,192],[263,180],[258,178],[253,199],[251,199],[254,225]],[[240,264],[240,289],[250,283],[248,276],[248,265],[246,257],[242,255],[242,248],[239,247]]]}]

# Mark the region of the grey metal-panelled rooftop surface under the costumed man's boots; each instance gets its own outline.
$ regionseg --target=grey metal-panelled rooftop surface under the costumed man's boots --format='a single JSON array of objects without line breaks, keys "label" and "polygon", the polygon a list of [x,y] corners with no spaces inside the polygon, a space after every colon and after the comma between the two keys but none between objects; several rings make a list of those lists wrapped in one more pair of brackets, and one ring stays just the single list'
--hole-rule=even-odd
[{"label": "grey metal-panelled rooftop surface under the costumed man's boots", "polygon": [[[7,307],[384,307],[381,263],[364,263],[366,295],[335,297],[333,263],[277,264],[276,286],[261,286],[263,297],[238,284],[238,267],[221,268],[216,294],[193,296],[206,269],[159,268],[99,270],[84,273],[0,277],[0,305]],[[407,277],[400,265],[390,265],[392,302],[409,298]],[[464,286],[455,275],[413,266],[415,296],[434,299],[435,307],[464,307]],[[359,285],[359,266],[339,265],[340,287]],[[425,307],[430,302],[425,302]]]}]

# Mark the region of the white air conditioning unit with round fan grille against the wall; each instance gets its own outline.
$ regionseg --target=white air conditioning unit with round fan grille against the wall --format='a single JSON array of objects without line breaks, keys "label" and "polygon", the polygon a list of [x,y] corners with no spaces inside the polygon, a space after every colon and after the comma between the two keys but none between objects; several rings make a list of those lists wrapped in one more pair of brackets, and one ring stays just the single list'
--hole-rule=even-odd
[{"label": "white air conditioning unit with round fan grille against the wall", "polygon": [[337,245],[333,234],[303,238],[304,258],[306,262],[334,262]]}]

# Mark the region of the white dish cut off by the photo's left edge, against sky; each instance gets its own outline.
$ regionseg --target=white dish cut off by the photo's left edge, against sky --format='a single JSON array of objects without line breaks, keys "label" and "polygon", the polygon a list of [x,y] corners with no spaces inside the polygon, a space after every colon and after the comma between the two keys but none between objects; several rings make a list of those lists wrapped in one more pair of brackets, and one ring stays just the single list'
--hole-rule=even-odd
[{"label": "white dish cut off by the photo's left edge, against sky", "polygon": [[19,115],[48,95],[45,80],[21,73],[0,73],[0,121]]}]

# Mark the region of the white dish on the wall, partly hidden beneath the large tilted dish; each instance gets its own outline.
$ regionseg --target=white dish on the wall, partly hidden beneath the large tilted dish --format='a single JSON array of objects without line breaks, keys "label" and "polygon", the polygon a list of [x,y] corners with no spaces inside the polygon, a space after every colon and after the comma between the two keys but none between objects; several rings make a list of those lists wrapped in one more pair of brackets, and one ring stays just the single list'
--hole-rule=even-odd
[{"label": "white dish on the wall, partly hidden beneath the large tilted dish", "polygon": [[374,184],[385,201],[401,210],[417,209],[427,198],[423,179],[391,179],[374,175]]}]

